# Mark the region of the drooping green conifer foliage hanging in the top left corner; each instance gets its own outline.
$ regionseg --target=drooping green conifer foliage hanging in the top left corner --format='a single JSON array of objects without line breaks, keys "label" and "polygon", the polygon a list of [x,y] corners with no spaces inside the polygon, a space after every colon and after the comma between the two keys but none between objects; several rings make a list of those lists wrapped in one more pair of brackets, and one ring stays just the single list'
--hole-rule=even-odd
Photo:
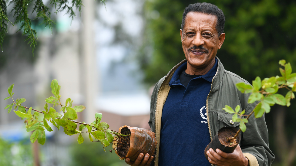
[{"label": "drooping green conifer foliage hanging in the top left corner", "polygon": [[[106,0],[102,0],[104,5]],[[32,11],[28,11],[29,4],[33,4]],[[31,14],[35,13],[35,19],[42,18],[43,21],[41,24],[44,24],[45,27],[49,27],[52,31],[53,24],[56,24],[51,18],[51,12],[49,7],[46,6],[42,0],[11,0],[8,5],[13,5],[12,11],[13,17],[15,17],[15,25],[19,25],[18,31],[23,31],[23,35],[26,36],[25,41],[28,41],[30,47],[32,47],[32,54],[34,56],[34,49],[36,48],[38,35],[35,29],[32,29],[31,19],[29,18],[28,12]],[[82,10],[82,0],[51,0],[50,5],[54,6],[57,14],[61,11],[66,11],[66,14],[69,14],[69,17],[74,19],[76,17],[76,13],[74,10],[79,11],[79,16]],[[7,33],[7,24],[10,22],[7,18],[6,11],[6,1],[0,0],[0,21],[1,21],[1,29],[0,29],[0,45],[2,47],[2,43],[4,37]],[[11,22],[10,22],[11,23]],[[12,23],[11,23],[12,24]],[[41,25],[40,24],[40,25]],[[3,49],[2,49],[3,50]]]}]

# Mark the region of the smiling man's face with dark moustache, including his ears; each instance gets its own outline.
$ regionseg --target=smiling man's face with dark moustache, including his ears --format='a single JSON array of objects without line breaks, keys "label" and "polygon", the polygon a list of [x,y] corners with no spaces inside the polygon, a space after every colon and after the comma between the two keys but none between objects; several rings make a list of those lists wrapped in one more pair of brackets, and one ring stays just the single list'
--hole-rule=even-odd
[{"label": "smiling man's face with dark moustache, including his ears", "polygon": [[189,12],[183,31],[180,29],[182,47],[190,66],[203,69],[213,61],[221,48],[225,33],[216,30],[217,17],[204,13]]}]

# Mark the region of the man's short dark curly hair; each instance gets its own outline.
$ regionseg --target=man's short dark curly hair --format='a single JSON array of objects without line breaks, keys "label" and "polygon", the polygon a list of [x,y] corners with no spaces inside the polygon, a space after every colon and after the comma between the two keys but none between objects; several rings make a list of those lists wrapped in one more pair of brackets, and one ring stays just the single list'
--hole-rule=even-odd
[{"label": "man's short dark curly hair", "polygon": [[183,28],[185,25],[186,15],[190,11],[216,16],[217,17],[216,29],[218,31],[218,34],[220,36],[223,33],[224,24],[225,24],[225,16],[224,16],[223,11],[221,9],[219,9],[216,5],[213,5],[213,4],[207,3],[207,2],[190,4],[185,8],[185,10],[183,12],[183,18],[182,18],[182,24],[181,24],[182,31],[183,31]]}]

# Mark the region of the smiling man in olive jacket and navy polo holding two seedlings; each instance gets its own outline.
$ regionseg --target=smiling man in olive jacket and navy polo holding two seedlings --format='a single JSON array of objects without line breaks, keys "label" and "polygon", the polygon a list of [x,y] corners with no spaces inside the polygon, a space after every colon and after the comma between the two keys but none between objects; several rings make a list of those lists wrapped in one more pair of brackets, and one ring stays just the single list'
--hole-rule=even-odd
[{"label": "smiling man in olive jacket and navy polo holding two seedlings", "polygon": [[[204,149],[223,126],[239,128],[225,105],[240,105],[249,114],[257,103],[248,104],[236,83],[246,80],[224,70],[216,57],[225,33],[223,11],[210,3],[187,6],[180,29],[186,59],[160,79],[151,96],[149,125],[156,134],[155,156],[140,154],[130,165],[175,166],[267,166],[274,155],[268,148],[265,116],[249,118],[247,130],[234,152]],[[154,158],[155,157],[155,158]],[[154,159],[154,160],[153,160]]]}]

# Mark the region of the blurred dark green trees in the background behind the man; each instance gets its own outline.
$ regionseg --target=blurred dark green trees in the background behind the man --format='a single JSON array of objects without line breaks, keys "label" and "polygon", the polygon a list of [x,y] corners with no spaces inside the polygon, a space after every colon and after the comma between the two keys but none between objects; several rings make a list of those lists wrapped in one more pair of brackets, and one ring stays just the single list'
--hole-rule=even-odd
[{"label": "blurred dark green trees in the background behind the man", "polygon": [[[144,82],[154,85],[185,59],[180,38],[183,10],[192,0],[147,1],[145,42],[140,63]],[[217,57],[224,68],[251,82],[280,75],[278,61],[296,67],[296,2],[292,0],[208,0],[223,10],[226,34]],[[292,101],[295,102],[295,101]],[[296,107],[278,106],[266,116],[273,165],[296,165]],[[285,116],[285,114],[289,116]],[[280,132],[280,133],[279,133]]]}]

